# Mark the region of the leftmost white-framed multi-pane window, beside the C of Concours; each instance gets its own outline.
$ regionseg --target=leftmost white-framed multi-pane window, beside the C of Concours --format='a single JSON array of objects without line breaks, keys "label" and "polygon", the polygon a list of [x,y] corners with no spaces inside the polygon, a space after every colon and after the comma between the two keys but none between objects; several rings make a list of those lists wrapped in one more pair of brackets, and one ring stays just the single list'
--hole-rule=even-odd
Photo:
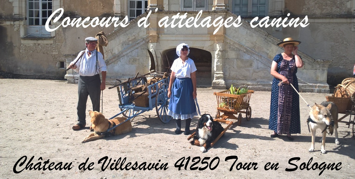
[{"label": "leftmost white-framed multi-pane window, beside the C of Concours", "polygon": [[[54,0],[26,0],[27,21],[25,25],[25,37],[51,37],[51,33],[45,30],[45,25],[42,24],[45,23],[44,21],[47,21],[48,17],[53,12],[53,1]],[[30,7],[31,2],[33,3],[32,8]],[[38,3],[38,7],[35,7],[36,2]],[[49,2],[51,3],[51,9],[48,8]],[[44,9],[42,7],[43,3],[47,4],[47,8]],[[31,11],[33,11],[33,13],[30,13]],[[38,11],[38,17],[35,17],[35,11]],[[47,17],[43,17],[44,11]],[[38,19],[38,24],[36,24],[36,19]]]}]

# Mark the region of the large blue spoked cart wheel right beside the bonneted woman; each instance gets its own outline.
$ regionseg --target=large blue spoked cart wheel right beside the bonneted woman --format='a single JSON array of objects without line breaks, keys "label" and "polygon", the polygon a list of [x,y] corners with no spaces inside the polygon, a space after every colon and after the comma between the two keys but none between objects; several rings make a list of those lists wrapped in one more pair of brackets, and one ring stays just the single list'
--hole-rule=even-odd
[{"label": "large blue spoked cart wheel right beside the bonneted woman", "polygon": [[169,85],[163,83],[157,92],[157,97],[155,101],[155,110],[160,121],[163,123],[168,123],[171,120],[171,116],[168,115],[168,106],[170,98],[168,98]]}]

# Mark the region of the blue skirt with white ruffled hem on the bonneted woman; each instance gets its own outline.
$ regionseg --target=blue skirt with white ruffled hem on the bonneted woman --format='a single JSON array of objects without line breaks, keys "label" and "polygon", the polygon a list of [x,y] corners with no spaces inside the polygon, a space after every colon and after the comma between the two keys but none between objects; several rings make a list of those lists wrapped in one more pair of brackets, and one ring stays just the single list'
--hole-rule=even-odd
[{"label": "blue skirt with white ruffled hem on the bonneted woman", "polygon": [[168,115],[174,119],[189,119],[197,116],[195,100],[192,96],[191,78],[175,78],[171,87]]}]

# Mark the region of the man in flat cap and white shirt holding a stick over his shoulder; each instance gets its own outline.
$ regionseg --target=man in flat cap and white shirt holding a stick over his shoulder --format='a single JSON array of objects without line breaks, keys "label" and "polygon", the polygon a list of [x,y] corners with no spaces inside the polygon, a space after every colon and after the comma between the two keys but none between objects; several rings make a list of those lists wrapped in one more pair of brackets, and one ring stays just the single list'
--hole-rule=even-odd
[{"label": "man in flat cap and white shirt holding a stick over his shoulder", "polygon": [[[100,92],[105,90],[107,67],[103,56],[95,50],[97,39],[87,37],[85,39],[86,49],[81,51],[76,59],[70,63],[69,68],[79,73],[78,81],[78,123],[74,125],[73,130],[79,130],[86,125],[86,102],[90,96],[92,110],[100,111]],[[76,62],[76,63],[75,63]],[[100,81],[102,74],[102,82]]]}]

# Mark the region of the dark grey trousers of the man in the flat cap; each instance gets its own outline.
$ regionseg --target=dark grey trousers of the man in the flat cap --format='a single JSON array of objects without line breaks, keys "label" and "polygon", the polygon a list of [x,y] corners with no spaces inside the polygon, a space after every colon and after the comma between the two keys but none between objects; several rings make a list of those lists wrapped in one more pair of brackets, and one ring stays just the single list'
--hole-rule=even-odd
[{"label": "dark grey trousers of the man in the flat cap", "polygon": [[100,75],[94,76],[80,76],[78,82],[78,123],[86,125],[86,102],[90,96],[92,103],[92,110],[100,112]]}]

